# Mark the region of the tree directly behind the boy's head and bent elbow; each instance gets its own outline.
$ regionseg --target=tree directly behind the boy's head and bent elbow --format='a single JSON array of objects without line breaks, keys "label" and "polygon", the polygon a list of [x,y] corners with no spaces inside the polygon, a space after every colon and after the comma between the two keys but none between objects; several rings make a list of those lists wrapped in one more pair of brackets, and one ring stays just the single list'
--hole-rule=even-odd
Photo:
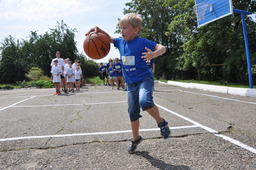
[{"label": "tree directly behind the boy's head and bent elbow", "polygon": [[170,77],[173,70],[174,56],[171,51],[174,47],[173,37],[165,34],[173,18],[170,7],[165,0],[132,0],[126,3],[126,13],[139,13],[143,19],[141,37],[150,39],[167,47],[167,52],[155,60],[156,77]]}]

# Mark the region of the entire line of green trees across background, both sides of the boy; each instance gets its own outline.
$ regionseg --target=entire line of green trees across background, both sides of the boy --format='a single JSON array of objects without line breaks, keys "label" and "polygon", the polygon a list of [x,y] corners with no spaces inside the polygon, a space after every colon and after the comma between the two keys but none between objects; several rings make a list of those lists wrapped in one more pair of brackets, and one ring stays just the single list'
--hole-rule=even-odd
[{"label": "entire line of green trees across background, both sides of the boy", "polygon": [[[167,47],[167,52],[155,60],[156,78],[247,84],[240,15],[230,15],[198,29],[194,4],[194,0],[132,0],[125,4],[124,14],[135,12],[143,18],[141,37]],[[233,1],[233,6],[253,12],[256,3],[238,0]],[[255,27],[256,23],[247,20],[253,79],[256,79]],[[57,50],[63,58],[82,60],[86,77],[97,75],[97,64],[77,52],[75,32],[61,21],[44,35],[31,32],[29,40],[6,38],[1,46],[0,82],[21,81],[32,66],[49,75],[49,63]]]}]

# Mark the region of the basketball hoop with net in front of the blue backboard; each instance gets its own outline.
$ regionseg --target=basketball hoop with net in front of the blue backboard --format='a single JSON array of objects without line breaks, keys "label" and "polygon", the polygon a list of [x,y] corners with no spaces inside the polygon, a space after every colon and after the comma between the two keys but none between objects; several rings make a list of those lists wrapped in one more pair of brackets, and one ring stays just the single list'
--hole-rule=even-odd
[{"label": "basketball hoop with net in front of the blue backboard", "polygon": [[196,12],[197,20],[202,21],[207,11],[213,11],[213,6],[209,3],[200,3],[194,6],[194,11]]}]

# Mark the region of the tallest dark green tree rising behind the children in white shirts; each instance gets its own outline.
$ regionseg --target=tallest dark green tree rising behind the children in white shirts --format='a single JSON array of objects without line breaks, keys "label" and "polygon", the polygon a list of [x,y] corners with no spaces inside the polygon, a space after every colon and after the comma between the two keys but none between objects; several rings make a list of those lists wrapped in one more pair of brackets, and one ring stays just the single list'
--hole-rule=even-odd
[{"label": "tallest dark green tree rising behind the children in white shirts", "polygon": [[60,51],[64,59],[70,58],[74,61],[77,58],[75,32],[76,29],[69,28],[63,21],[58,22],[55,29],[50,29],[44,35],[31,32],[29,41],[34,46],[33,61],[45,75],[50,75],[50,63],[55,58],[56,51]]}]

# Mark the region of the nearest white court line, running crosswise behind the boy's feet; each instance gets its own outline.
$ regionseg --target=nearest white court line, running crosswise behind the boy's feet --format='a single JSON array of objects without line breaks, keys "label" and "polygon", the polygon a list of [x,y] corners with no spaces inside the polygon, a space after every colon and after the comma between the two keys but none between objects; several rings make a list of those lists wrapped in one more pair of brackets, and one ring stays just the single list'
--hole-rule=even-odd
[{"label": "nearest white court line, running crosswise behind the boy's feet", "polygon": [[[186,128],[196,128],[198,126],[177,126],[170,127],[170,129],[186,129]],[[151,131],[159,131],[159,128],[153,129],[140,129],[140,132],[151,132]],[[6,141],[16,141],[16,140],[26,140],[26,139],[43,139],[43,138],[60,138],[60,137],[74,137],[74,136],[93,136],[93,135],[110,135],[110,134],[119,134],[119,133],[131,133],[131,130],[123,130],[123,131],[110,131],[110,132],[94,132],[94,133],[77,133],[77,134],[62,134],[62,135],[44,135],[44,136],[24,136],[24,137],[14,137],[14,138],[5,138],[0,139],[0,142]]]}]

